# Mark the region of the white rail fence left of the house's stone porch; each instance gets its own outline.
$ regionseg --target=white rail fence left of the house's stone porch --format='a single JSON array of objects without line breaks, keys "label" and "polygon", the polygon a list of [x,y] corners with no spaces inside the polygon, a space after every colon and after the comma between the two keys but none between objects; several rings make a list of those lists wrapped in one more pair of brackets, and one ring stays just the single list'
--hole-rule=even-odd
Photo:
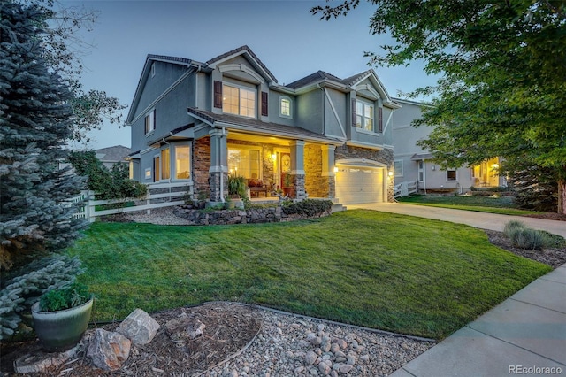
[{"label": "white rail fence left of the house's stone porch", "polygon": [[[89,219],[91,222],[99,216],[116,213],[147,211],[155,208],[169,207],[185,203],[187,183],[159,183],[149,185],[148,194],[143,198],[126,198],[111,200],[96,200],[94,191],[82,191],[80,196],[72,199],[73,203],[82,202],[84,205],[73,216],[79,219]],[[121,204],[118,208],[107,209],[109,204]]]}]

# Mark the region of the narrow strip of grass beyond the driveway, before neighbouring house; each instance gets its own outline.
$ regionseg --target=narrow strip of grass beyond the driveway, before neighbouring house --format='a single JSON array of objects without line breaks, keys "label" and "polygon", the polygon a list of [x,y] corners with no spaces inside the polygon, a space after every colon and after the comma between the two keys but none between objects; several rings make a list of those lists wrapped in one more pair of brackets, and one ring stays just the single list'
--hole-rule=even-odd
[{"label": "narrow strip of grass beyond the driveway, before neighbouring house", "polygon": [[534,211],[520,210],[513,202],[513,197],[501,196],[455,196],[455,195],[411,195],[397,199],[400,203],[429,205],[431,207],[452,208],[456,210],[500,213],[503,215],[522,216]]}]

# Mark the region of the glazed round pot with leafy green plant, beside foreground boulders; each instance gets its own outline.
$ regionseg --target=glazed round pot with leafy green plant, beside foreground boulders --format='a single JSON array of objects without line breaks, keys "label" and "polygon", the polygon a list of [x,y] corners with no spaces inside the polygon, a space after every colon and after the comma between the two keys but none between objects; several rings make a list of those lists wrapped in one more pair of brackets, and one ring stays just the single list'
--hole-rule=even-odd
[{"label": "glazed round pot with leafy green plant, beside foreground boulders", "polygon": [[76,281],[44,293],[32,306],[35,334],[43,349],[62,351],[77,344],[87,330],[93,302],[88,287]]}]

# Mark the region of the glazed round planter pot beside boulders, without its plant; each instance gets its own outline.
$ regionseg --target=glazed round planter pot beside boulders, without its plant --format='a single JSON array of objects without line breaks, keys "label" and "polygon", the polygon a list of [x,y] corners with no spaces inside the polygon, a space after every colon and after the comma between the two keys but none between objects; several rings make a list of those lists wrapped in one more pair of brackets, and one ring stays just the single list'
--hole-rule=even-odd
[{"label": "glazed round planter pot beside boulders, without its plant", "polygon": [[35,334],[44,350],[59,352],[73,348],[85,333],[92,312],[94,296],[85,304],[57,312],[41,312],[39,303],[32,306]]}]

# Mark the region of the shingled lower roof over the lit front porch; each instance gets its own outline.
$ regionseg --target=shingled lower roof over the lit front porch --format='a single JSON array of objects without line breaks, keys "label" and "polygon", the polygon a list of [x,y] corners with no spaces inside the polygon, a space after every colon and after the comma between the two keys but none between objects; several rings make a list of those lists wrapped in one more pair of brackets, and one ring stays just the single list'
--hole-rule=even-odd
[{"label": "shingled lower roof over the lit front porch", "polygon": [[263,122],[254,118],[243,118],[231,114],[215,114],[193,107],[187,108],[187,112],[212,127],[227,127],[240,131],[253,132],[265,135],[277,135],[287,138],[301,138],[313,142],[331,142],[342,144],[337,138],[320,135],[304,128],[282,125],[279,123]]}]

